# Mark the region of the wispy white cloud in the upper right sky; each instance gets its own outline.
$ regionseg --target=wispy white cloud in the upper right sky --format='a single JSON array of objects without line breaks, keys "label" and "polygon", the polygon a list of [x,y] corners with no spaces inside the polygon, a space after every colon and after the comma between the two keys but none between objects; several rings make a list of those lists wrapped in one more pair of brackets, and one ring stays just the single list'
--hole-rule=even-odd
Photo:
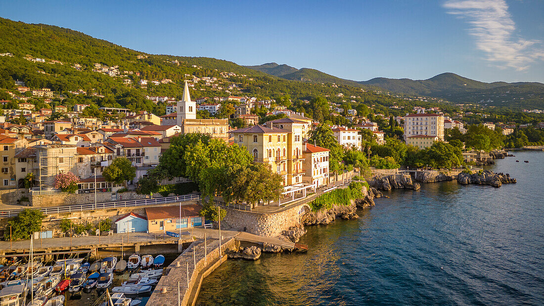
[{"label": "wispy white cloud in the upper right sky", "polygon": [[497,66],[525,70],[535,60],[544,59],[541,41],[515,37],[516,24],[504,0],[449,0],[448,14],[466,18],[476,46]]}]

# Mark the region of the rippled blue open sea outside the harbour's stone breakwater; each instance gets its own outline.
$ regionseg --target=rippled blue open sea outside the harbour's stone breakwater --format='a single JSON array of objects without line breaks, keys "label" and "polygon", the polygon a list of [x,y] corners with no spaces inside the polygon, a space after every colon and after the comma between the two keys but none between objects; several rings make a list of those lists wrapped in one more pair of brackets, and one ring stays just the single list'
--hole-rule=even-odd
[{"label": "rippled blue open sea outside the harbour's stone breakwater", "polygon": [[394,190],[358,220],[306,227],[307,254],[228,260],[197,304],[542,305],[544,153],[514,154],[490,168],[517,184]]}]

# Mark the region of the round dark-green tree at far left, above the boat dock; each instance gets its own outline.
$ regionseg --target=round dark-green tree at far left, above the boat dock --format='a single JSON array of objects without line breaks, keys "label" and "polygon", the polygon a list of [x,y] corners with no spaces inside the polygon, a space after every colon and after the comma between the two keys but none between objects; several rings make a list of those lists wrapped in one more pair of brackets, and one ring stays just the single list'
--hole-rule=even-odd
[{"label": "round dark-green tree at far left, above the boat dock", "polygon": [[30,239],[30,235],[41,230],[41,221],[44,214],[36,209],[23,209],[21,213],[8,221],[8,226],[4,228],[4,235],[9,239],[9,229],[11,227],[11,239]]}]

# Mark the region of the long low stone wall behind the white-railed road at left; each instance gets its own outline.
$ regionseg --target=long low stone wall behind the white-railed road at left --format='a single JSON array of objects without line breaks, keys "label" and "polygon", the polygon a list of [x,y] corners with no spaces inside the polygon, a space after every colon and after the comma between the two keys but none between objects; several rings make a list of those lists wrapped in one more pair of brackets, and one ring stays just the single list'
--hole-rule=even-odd
[{"label": "long low stone wall behind the white-railed road at left", "polygon": [[[114,193],[115,195],[115,193]],[[138,195],[134,191],[122,192],[117,194],[117,200],[112,199],[112,193],[109,192],[97,192],[97,203],[108,203],[114,201],[132,201],[134,199],[149,198],[147,195]],[[162,197],[159,194],[153,195],[153,198]],[[34,207],[57,207],[57,206],[69,206],[69,205],[83,205],[94,204],[94,193],[70,193],[68,195],[32,195],[29,197],[30,205]]]}]

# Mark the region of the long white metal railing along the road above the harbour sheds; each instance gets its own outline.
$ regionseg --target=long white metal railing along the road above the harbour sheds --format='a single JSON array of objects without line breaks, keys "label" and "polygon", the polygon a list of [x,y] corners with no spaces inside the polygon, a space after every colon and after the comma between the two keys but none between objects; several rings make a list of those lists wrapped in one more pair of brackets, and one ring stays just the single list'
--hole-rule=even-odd
[{"label": "long white metal railing along the road above the harbour sheds", "polygon": [[[56,190],[48,190],[48,191],[56,191]],[[59,214],[59,213],[71,213],[72,211],[110,209],[110,208],[119,208],[119,207],[143,206],[143,205],[155,205],[155,204],[184,202],[184,201],[199,200],[199,199],[200,199],[200,195],[182,195],[182,196],[175,196],[175,197],[141,199],[141,200],[134,200],[134,201],[118,201],[118,202],[109,202],[109,203],[83,204],[83,205],[71,205],[71,206],[61,206],[61,207],[47,207],[47,208],[39,208],[39,209],[36,209],[36,210],[39,210],[42,213],[48,215],[48,214]],[[16,216],[22,210],[23,209],[0,211],[0,218]]]}]

